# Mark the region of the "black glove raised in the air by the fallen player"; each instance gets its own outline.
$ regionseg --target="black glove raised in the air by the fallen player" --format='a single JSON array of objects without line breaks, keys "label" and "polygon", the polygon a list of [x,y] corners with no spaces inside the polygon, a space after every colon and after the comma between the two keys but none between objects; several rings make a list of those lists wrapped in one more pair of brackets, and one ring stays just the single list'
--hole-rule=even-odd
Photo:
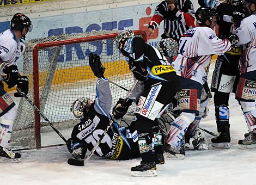
[{"label": "black glove raised in the air by the fallen player", "polygon": [[105,67],[101,64],[99,55],[91,52],[89,55],[89,65],[96,77],[104,77],[103,73],[105,71]]}]

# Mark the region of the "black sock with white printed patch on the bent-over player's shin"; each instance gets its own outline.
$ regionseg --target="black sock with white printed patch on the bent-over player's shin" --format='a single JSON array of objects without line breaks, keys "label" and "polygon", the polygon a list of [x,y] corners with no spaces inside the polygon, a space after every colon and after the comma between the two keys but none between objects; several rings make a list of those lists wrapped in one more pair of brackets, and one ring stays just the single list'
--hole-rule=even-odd
[{"label": "black sock with white printed patch on the bent-over player's shin", "polygon": [[155,161],[153,133],[140,133],[138,139],[139,153],[144,163]]}]

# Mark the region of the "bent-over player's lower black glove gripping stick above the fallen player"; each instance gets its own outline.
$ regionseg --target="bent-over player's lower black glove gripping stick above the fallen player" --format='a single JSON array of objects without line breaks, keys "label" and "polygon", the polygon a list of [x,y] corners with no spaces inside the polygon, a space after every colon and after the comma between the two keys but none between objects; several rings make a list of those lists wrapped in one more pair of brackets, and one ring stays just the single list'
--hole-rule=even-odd
[{"label": "bent-over player's lower black glove gripping stick above the fallen player", "polygon": [[127,113],[128,108],[131,106],[132,101],[127,99],[126,102],[124,102],[123,98],[119,98],[117,101],[117,104],[113,107],[113,115],[114,119],[120,119],[123,118],[123,116]]}]

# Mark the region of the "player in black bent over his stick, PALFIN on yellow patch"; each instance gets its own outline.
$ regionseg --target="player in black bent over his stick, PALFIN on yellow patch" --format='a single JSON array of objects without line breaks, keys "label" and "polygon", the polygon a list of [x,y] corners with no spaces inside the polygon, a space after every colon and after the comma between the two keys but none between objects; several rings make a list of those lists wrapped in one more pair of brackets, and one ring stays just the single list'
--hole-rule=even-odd
[{"label": "player in black bent over his stick, PALFIN on yellow patch", "polygon": [[[142,161],[131,168],[131,175],[156,176],[154,156],[162,147],[154,148],[157,134],[154,134],[153,124],[176,93],[176,72],[157,48],[135,36],[132,30],[120,32],[116,41],[133,75],[144,84],[134,121]],[[129,106],[129,102],[117,104],[114,115],[121,118],[127,111],[123,107]]]}]

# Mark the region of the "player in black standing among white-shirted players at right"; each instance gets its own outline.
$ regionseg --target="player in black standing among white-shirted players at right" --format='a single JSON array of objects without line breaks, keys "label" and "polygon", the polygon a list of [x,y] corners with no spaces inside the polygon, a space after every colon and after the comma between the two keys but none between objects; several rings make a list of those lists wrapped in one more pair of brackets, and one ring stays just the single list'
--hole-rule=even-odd
[{"label": "player in black standing among white-shirted players at right", "polygon": [[[243,0],[229,0],[225,3],[218,1],[198,1],[202,7],[215,8],[220,16],[218,24],[218,34],[221,39],[231,35],[230,28],[236,21],[242,20],[247,16],[247,10]],[[218,55],[215,63],[211,81],[211,91],[214,93],[215,120],[217,130],[220,132],[218,137],[212,138],[212,146],[229,149],[229,95],[236,92],[239,69],[238,62],[242,54],[242,45],[232,45],[231,49],[224,55]]]}]

